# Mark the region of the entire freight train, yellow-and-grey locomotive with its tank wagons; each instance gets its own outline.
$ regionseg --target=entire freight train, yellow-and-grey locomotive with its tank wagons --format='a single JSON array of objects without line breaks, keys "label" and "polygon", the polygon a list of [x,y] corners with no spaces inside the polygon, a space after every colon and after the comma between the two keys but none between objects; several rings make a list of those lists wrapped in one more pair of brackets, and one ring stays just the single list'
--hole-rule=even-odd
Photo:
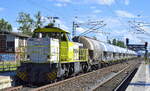
[{"label": "entire freight train, yellow-and-grey locomotive with its tank wagons", "polygon": [[34,30],[27,40],[26,60],[17,70],[18,81],[46,84],[104,64],[136,57],[136,53],[85,36],[71,41],[69,32],[52,26]]}]

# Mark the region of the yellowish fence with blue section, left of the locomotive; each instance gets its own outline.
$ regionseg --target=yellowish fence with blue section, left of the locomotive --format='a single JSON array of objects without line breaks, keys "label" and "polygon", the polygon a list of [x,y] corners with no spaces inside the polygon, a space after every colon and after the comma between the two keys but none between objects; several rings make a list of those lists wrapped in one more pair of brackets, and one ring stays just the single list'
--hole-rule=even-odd
[{"label": "yellowish fence with blue section, left of the locomotive", "polygon": [[0,52],[0,72],[14,71],[25,59],[25,48],[20,47],[16,52]]}]

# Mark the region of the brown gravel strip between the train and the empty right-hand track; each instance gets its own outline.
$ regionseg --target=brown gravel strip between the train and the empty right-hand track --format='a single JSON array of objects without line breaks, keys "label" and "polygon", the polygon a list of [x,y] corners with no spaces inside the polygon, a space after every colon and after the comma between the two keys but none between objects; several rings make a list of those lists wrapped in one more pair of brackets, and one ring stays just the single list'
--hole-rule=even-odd
[{"label": "brown gravel strip between the train and the empty right-hand track", "polygon": [[[49,84],[43,87],[34,89],[34,91],[91,91],[92,88],[100,83],[103,83],[108,78],[114,76],[123,68],[134,65],[137,60],[126,61],[112,66],[108,66],[96,71],[92,71],[83,75],[72,77],[60,82]],[[113,82],[111,84],[114,84]]]}]

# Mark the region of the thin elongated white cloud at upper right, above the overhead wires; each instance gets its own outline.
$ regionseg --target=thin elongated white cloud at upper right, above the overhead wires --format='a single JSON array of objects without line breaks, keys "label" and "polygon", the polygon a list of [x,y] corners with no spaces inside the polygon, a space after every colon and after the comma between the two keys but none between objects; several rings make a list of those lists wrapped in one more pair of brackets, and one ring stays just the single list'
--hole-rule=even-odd
[{"label": "thin elongated white cloud at upper right, above the overhead wires", "polygon": [[133,14],[131,14],[131,13],[127,12],[127,11],[123,11],[123,10],[116,10],[115,13],[119,17],[125,17],[125,18],[135,18],[136,17]]}]

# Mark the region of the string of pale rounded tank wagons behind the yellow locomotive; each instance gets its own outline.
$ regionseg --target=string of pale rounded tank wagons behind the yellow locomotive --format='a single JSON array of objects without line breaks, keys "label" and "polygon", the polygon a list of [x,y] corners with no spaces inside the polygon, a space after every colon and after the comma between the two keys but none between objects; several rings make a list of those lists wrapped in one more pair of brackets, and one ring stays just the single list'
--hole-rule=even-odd
[{"label": "string of pale rounded tank wagons behind the yellow locomotive", "polygon": [[132,50],[114,46],[89,37],[77,36],[73,40],[82,43],[84,48],[89,49],[89,61],[91,64],[125,60],[136,56],[136,52]]}]

